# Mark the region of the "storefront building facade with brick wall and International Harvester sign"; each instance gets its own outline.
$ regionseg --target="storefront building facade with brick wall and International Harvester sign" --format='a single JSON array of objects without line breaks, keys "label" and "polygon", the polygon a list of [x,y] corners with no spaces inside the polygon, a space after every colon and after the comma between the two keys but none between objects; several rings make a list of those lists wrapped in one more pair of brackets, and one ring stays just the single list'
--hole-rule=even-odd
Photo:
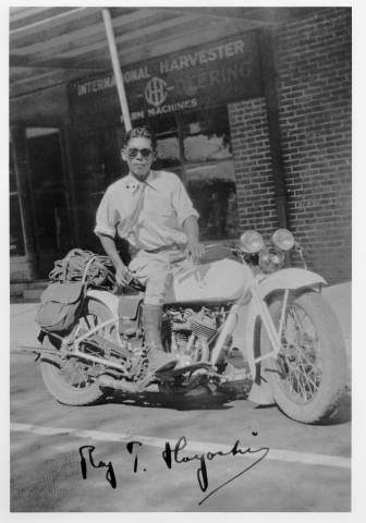
[{"label": "storefront building facade with brick wall and International Harvester sign", "polygon": [[[351,279],[351,9],[329,8],[122,68],[203,240],[288,227],[310,269]],[[74,246],[100,251],[95,211],[125,173],[113,74],[13,98],[10,119],[11,278],[44,278]]]}]

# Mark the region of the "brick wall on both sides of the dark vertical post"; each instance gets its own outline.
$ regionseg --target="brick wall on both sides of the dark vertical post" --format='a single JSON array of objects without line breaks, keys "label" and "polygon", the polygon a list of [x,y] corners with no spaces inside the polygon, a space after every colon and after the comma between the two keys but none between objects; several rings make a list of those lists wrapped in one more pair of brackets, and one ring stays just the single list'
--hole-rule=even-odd
[{"label": "brick wall on both sides of the dark vertical post", "polygon": [[[289,228],[309,268],[351,279],[351,10],[331,8],[274,39]],[[229,106],[241,229],[278,227],[265,100]]]}]

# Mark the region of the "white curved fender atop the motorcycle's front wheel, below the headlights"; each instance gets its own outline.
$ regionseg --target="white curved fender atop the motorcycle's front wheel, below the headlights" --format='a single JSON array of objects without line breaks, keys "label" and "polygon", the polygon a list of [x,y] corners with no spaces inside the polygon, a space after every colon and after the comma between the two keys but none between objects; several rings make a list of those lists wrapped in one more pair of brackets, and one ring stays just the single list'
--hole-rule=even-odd
[{"label": "white curved fender atop the motorcycle's front wheel, below the headlights", "polygon": [[259,296],[265,299],[273,291],[296,290],[303,288],[313,288],[316,285],[326,285],[327,281],[316,272],[306,269],[289,268],[272,272],[264,278],[257,288]]}]

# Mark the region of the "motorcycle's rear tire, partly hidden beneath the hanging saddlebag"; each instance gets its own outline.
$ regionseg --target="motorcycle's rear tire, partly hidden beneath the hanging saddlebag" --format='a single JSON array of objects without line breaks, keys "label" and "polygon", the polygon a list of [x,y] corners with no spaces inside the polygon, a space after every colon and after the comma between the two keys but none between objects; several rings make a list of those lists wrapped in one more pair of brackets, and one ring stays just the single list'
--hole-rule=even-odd
[{"label": "motorcycle's rear tire, partly hidden beneath the hanging saddlebag", "polygon": [[[96,301],[88,300],[74,329],[84,328],[86,331],[86,326],[90,325],[91,320],[96,325],[106,321],[110,317],[107,307]],[[45,337],[44,344],[53,349],[60,348],[60,342],[52,337]],[[83,373],[85,379],[76,385],[69,382],[69,379],[64,376],[68,365],[71,367],[71,370],[72,366],[74,366],[74,369],[80,374]],[[103,392],[89,370],[89,365],[74,358],[63,360],[61,356],[45,355],[40,362],[40,372],[46,388],[57,401],[66,405],[90,405],[103,398]]]}]

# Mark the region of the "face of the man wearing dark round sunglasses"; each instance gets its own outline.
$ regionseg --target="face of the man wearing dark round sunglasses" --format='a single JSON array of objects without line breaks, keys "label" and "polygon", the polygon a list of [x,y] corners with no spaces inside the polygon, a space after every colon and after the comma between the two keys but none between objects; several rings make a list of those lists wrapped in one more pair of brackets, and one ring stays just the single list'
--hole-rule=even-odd
[{"label": "face of the man wearing dark round sunglasses", "polygon": [[129,145],[122,149],[122,158],[137,180],[145,180],[155,159],[151,141],[142,136],[131,138]]}]

